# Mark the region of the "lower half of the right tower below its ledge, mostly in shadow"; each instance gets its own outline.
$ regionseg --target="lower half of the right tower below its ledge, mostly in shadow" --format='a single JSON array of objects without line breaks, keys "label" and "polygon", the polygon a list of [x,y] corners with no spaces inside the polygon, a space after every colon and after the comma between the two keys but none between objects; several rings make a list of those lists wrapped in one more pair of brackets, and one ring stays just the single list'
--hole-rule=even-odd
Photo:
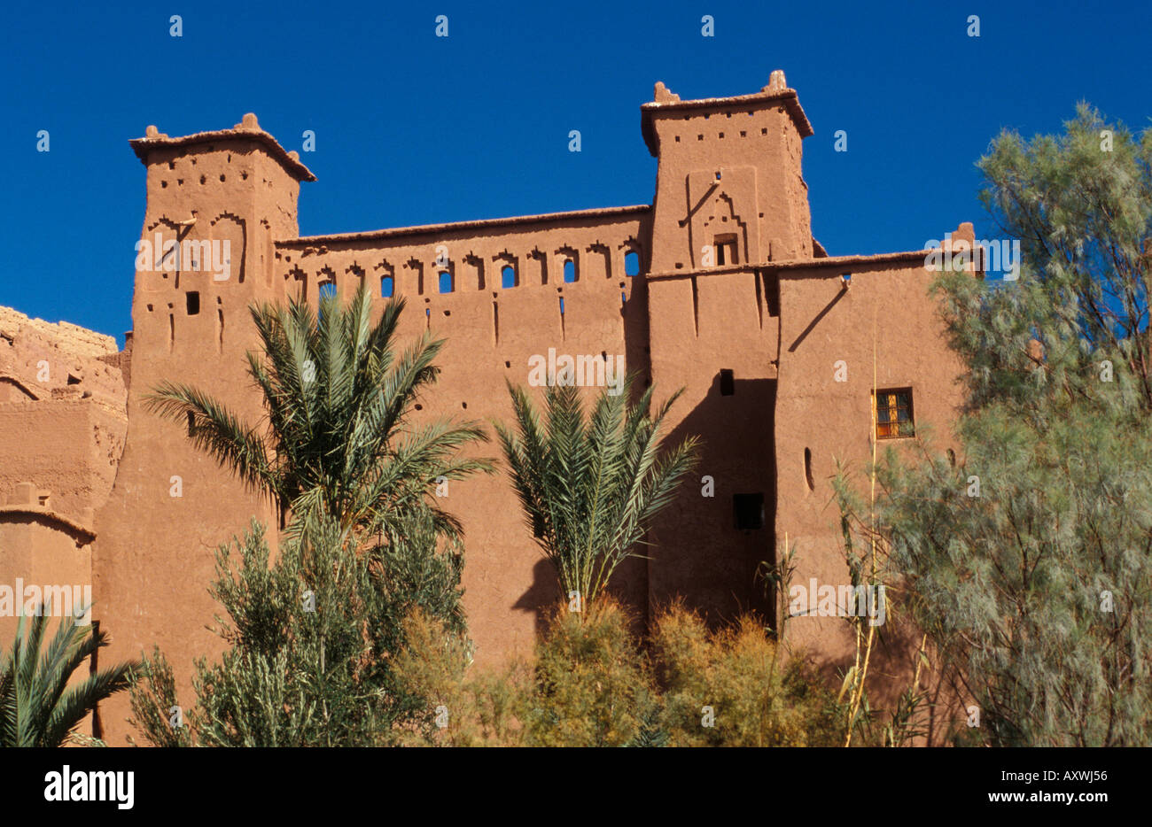
[{"label": "lower half of the right tower below its ledge, mostly in shadow", "polygon": [[[668,416],[672,439],[703,440],[695,475],[653,524],[650,599],[683,597],[713,619],[763,610],[756,570],[772,554],[779,324],[763,274],[741,267],[650,278],[649,316],[652,380],[662,395],[684,389]],[[733,371],[730,395],[722,370]],[[736,494],[763,495],[763,526],[736,528]]]}]

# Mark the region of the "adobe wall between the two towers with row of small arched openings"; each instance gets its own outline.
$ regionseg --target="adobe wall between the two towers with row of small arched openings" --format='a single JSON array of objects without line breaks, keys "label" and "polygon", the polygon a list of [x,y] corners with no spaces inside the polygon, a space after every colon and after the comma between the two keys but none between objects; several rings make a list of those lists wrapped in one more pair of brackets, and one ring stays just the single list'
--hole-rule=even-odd
[{"label": "adobe wall between the two towers with row of small arched openings", "polygon": [[[558,213],[507,221],[478,221],[351,236],[286,240],[276,244],[278,283],[289,295],[316,302],[318,284],[336,284],[347,298],[366,281],[380,298],[380,280],[393,279],[407,309],[397,335],[406,347],[425,331],[444,339],[440,377],[420,400],[412,424],[435,419],[479,420],[493,441],[472,456],[500,457],[492,422],[509,423],[506,381],[528,387],[529,358],[558,355],[623,357],[643,385],[647,374],[644,282],[628,276],[624,257],[646,258],[649,207]],[[438,250],[438,246],[442,249]],[[437,263],[438,255],[447,258]],[[563,263],[575,278],[566,282]],[[515,287],[501,270],[514,267]],[[439,291],[439,272],[453,275],[453,291]],[[562,302],[562,304],[561,304]],[[530,388],[539,399],[539,388]],[[598,388],[588,390],[589,397]],[[482,665],[528,653],[545,609],[558,597],[554,576],[524,526],[520,502],[502,468],[452,481],[446,504],[464,528],[464,608]],[[644,605],[645,567],[627,566],[614,587]]]}]

